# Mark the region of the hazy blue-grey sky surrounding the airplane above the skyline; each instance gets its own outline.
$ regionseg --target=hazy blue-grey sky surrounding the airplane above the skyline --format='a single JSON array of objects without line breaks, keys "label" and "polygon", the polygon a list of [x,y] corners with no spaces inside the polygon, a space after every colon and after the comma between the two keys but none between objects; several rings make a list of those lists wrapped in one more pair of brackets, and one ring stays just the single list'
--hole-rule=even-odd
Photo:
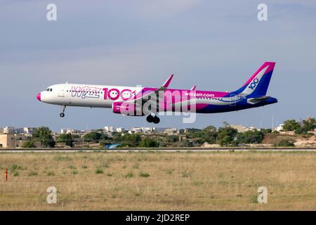
[{"label": "hazy blue-grey sky surrounding the airplane above the skyline", "polygon": [[[57,21],[46,20],[50,3]],[[261,3],[267,21],[257,18]],[[277,104],[198,114],[192,124],[162,116],[156,127],[271,127],[316,117],[315,1],[2,0],[0,29],[0,127],[152,127],[104,108],[67,108],[60,118],[60,106],[36,96],[65,82],[159,87],[171,73],[172,88],[234,91],[265,61],[277,63],[268,89]]]}]

